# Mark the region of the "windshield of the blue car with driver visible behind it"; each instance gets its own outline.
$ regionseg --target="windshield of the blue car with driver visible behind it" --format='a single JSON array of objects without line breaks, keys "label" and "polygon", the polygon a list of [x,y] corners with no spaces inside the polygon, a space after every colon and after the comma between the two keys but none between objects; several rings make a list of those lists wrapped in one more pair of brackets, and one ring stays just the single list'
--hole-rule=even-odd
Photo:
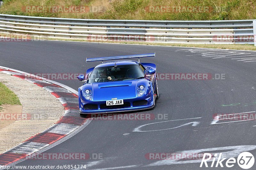
[{"label": "windshield of the blue car with driver visible behind it", "polygon": [[137,64],[115,65],[93,69],[88,83],[125,81],[143,77],[144,73]]}]

